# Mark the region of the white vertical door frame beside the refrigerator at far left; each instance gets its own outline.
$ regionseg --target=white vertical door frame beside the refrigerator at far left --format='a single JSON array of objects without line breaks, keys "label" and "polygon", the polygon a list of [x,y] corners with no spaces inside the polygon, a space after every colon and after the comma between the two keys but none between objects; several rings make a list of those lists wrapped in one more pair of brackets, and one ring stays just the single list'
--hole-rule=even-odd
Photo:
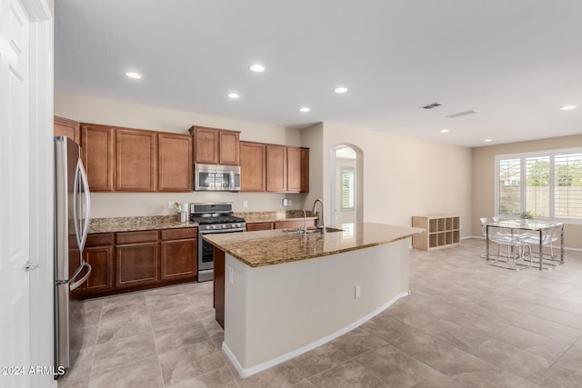
[{"label": "white vertical door frame beside the refrigerator at far left", "polygon": [[[30,24],[30,364],[51,367],[54,354],[55,0],[20,0]],[[56,386],[51,374],[31,375],[32,386]]]}]

